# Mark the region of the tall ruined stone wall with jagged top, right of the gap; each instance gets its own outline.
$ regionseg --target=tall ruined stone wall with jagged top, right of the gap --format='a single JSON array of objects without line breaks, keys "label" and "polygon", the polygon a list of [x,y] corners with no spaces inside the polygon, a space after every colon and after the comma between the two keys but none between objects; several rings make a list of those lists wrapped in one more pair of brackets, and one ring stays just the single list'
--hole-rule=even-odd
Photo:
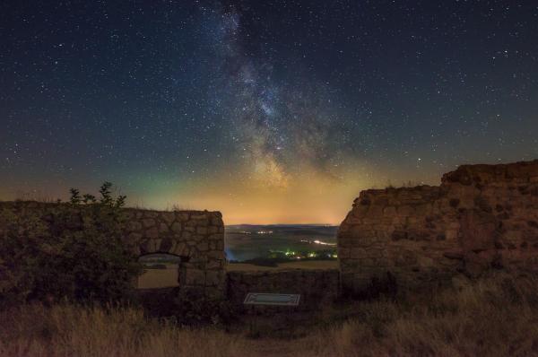
[{"label": "tall ruined stone wall with jagged top, right of the gap", "polygon": [[338,231],[344,292],[538,272],[538,161],[464,165],[439,187],[362,191]]}]

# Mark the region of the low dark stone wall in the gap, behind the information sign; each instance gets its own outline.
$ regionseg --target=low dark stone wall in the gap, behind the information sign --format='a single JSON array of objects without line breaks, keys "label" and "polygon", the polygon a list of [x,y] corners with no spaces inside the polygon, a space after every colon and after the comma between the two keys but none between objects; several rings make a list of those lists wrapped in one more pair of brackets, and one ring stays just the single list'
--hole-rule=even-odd
[{"label": "low dark stone wall in the gap, behind the information sign", "polygon": [[228,272],[228,297],[237,309],[244,309],[248,292],[300,294],[297,309],[317,309],[338,296],[337,269],[289,269],[258,272]]}]

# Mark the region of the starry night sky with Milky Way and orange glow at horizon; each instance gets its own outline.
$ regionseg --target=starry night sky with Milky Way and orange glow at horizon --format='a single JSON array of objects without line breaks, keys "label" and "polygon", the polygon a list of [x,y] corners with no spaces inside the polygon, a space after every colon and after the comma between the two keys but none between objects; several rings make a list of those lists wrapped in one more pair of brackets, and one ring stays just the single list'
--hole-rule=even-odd
[{"label": "starry night sky with Milky Way and orange glow at horizon", "polygon": [[0,199],[112,181],[226,223],[538,158],[538,3],[0,4]]}]

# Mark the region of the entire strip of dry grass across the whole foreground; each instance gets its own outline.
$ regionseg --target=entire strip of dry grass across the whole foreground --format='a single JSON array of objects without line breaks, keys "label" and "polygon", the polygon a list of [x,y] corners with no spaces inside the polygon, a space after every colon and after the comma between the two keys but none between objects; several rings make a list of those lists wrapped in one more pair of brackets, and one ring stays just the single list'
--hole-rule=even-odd
[{"label": "entire strip of dry grass across the whole foreground", "polygon": [[342,303],[280,335],[275,318],[265,317],[256,331],[244,319],[194,329],[145,318],[134,307],[26,305],[0,312],[0,355],[538,355],[533,278],[495,276],[459,291]]}]

